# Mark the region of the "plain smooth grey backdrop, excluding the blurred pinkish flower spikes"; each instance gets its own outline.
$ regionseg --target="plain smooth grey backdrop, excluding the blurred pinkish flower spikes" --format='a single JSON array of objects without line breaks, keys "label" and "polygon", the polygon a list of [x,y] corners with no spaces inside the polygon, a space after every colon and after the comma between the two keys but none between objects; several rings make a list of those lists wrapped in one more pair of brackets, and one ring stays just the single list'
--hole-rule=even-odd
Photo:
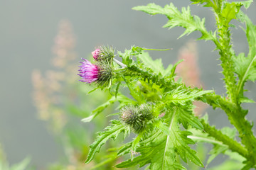
[{"label": "plain smooth grey backdrop, excluding the blurred pinkish flower spikes", "polygon": [[[55,45],[58,44],[56,36],[63,22],[68,24],[68,33],[74,38],[72,47],[75,52],[74,60],[77,62],[80,62],[81,57],[89,57],[90,52],[99,45],[112,45],[117,50],[137,45],[158,49],[172,48],[173,50],[164,52],[150,52],[154,58],[161,57],[167,66],[178,60],[184,45],[201,36],[200,33],[192,33],[177,39],[184,29],[161,28],[167,21],[165,16],[149,16],[131,9],[150,2],[161,6],[170,3],[166,0],[0,1],[0,143],[10,164],[30,156],[31,164],[43,169],[58,161],[63,154],[58,141],[48,130],[47,123],[38,118],[31,81],[34,70],[46,72],[53,67],[52,58],[56,55]],[[188,0],[171,2],[178,8],[191,4]],[[206,18],[208,30],[215,29],[213,13],[208,8],[193,5],[191,11]],[[254,2],[246,11],[254,23],[255,11]],[[246,37],[242,29],[233,28],[232,33],[235,52],[247,52]],[[213,42],[199,40],[190,47],[196,50],[198,56],[203,88],[224,94],[218,52],[214,51]],[[75,81],[78,79],[79,77]],[[256,99],[255,84],[250,82],[246,87],[249,90],[247,96]],[[252,111],[247,118],[256,120],[253,113],[255,103],[245,106]],[[206,111],[210,124],[218,128],[227,124],[228,120],[222,112],[210,109]],[[81,122],[78,121],[79,123]],[[253,129],[256,130],[255,127]]]}]

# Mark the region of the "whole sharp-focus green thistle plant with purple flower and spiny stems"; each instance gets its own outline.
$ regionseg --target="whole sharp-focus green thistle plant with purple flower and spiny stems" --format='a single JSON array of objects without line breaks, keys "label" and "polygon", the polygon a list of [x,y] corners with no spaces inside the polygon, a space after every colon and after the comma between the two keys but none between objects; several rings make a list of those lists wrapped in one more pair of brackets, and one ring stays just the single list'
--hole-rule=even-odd
[{"label": "whole sharp-focus green thistle plant with purple flower and spiny stems", "polygon": [[[110,91],[112,98],[82,121],[91,121],[114,102],[119,102],[119,112],[112,114],[110,125],[99,132],[95,142],[90,145],[86,164],[100,152],[107,140],[116,140],[121,136],[123,140],[127,138],[130,141],[120,143],[115,157],[128,154],[129,158],[117,164],[117,168],[147,166],[154,170],[186,169],[189,167],[186,164],[191,163],[205,167],[218,154],[226,154],[230,159],[235,159],[235,169],[256,168],[253,124],[245,118],[249,111],[242,108],[242,103],[255,103],[244,95],[244,86],[247,81],[256,79],[256,26],[241,10],[242,6],[248,8],[252,0],[191,1],[191,5],[201,4],[211,9],[216,20],[216,30],[208,31],[205,19],[192,15],[189,6],[183,7],[181,11],[172,3],[164,7],[148,4],[133,9],[150,15],[166,16],[168,21],[164,27],[185,28],[181,36],[199,31],[201,37],[198,40],[213,41],[220,55],[226,94],[221,96],[212,90],[186,86],[183,81],[177,81],[176,67],[182,61],[170,64],[165,69],[161,59],[152,60],[149,57],[147,51],[154,49],[132,46],[124,52],[115,52],[112,47],[98,47],[92,52],[95,59],[92,64],[87,60],[81,62],[80,77],[83,82],[95,86],[95,90]],[[249,46],[247,57],[245,53],[236,54],[233,50],[230,29],[232,20],[246,25],[243,30]],[[207,115],[198,118],[193,112],[193,101],[201,101],[214,109],[223,110],[233,128],[224,127],[219,130],[209,124]],[[134,133],[134,139],[128,137],[131,133]],[[200,153],[192,149],[198,142],[213,144],[206,164],[198,157]],[[227,168],[218,166],[218,169]]]}]

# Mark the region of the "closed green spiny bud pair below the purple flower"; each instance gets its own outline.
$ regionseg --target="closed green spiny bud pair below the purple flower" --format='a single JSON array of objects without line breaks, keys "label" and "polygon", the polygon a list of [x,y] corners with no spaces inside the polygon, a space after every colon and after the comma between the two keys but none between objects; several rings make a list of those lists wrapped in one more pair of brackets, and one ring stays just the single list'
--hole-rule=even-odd
[{"label": "closed green spiny bud pair below the purple flower", "polygon": [[121,109],[121,119],[129,125],[134,132],[139,133],[146,128],[146,124],[154,118],[151,107],[142,104],[141,106],[127,105]]}]

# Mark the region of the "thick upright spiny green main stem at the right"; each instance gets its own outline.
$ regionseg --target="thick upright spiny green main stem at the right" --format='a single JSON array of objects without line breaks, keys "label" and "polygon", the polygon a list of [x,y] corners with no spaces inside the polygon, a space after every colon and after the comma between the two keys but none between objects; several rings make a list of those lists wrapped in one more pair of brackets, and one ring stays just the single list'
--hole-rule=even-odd
[{"label": "thick upright spiny green main stem at the right", "polygon": [[[230,120],[230,123],[232,123],[235,128],[239,132],[239,136],[241,138],[241,142],[248,151],[247,160],[250,161],[252,164],[256,164],[256,137],[252,132],[252,125],[245,120],[245,115],[247,114],[247,111],[243,110],[239,103],[239,92],[241,89],[242,82],[241,80],[238,83],[238,86],[236,85],[235,80],[235,64],[233,62],[232,57],[235,56],[232,45],[231,45],[231,35],[229,30],[229,22],[227,18],[224,18],[222,16],[222,9],[223,9],[223,1],[218,0],[218,8],[214,8],[215,16],[216,16],[216,22],[218,26],[218,35],[219,35],[219,42],[220,47],[218,49],[220,50],[220,60],[221,60],[221,67],[223,67],[223,75],[224,75],[224,81],[226,84],[227,93],[229,96],[230,103],[228,101],[225,101],[224,103],[228,103],[228,107],[225,106],[222,102],[216,102],[213,101],[214,99],[211,98],[212,103],[218,103],[220,108],[225,111],[225,113],[228,115],[228,119]],[[220,99],[220,98],[218,98]],[[209,98],[208,98],[209,100]],[[213,106],[213,105],[212,105]]]}]

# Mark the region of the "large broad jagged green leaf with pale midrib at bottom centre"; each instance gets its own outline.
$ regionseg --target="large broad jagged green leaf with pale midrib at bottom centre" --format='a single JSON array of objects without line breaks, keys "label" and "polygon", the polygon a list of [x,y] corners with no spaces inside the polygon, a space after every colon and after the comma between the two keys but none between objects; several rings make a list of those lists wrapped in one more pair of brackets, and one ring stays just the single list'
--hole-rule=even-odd
[{"label": "large broad jagged green leaf with pale midrib at bottom centre", "polygon": [[[203,166],[201,160],[196,156],[196,151],[188,147],[188,144],[193,143],[187,138],[187,135],[191,133],[183,132],[178,128],[179,115],[176,111],[170,113],[166,120],[169,122],[168,130],[165,128],[165,132],[153,130],[151,135],[145,136],[144,140],[139,142],[136,152],[139,152],[140,155],[134,157],[133,160],[129,159],[118,164],[117,167],[127,168],[137,164],[142,167],[150,164],[150,169],[156,170],[185,169],[177,162],[176,154],[179,154],[184,162],[187,162],[188,159],[198,166]],[[169,135],[166,135],[166,132],[169,132]]]}]

